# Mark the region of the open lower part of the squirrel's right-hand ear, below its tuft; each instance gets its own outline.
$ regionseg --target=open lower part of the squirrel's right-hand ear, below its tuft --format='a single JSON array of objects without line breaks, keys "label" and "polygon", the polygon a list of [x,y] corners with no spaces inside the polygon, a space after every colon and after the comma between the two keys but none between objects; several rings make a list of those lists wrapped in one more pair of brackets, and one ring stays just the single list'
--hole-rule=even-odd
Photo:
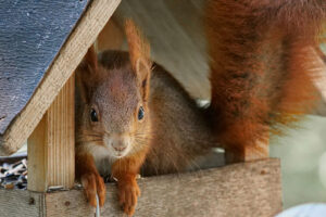
[{"label": "open lower part of the squirrel's right-hand ear, below its tuft", "polygon": [[139,58],[136,61],[136,74],[140,84],[141,97],[145,101],[147,101],[150,90],[151,65]]}]

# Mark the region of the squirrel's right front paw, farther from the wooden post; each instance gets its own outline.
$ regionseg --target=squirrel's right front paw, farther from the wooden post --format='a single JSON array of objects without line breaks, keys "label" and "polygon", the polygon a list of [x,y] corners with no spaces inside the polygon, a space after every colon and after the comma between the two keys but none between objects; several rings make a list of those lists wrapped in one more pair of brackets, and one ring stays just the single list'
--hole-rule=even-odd
[{"label": "squirrel's right front paw, farther from the wooden post", "polygon": [[118,181],[118,202],[128,216],[133,216],[137,205],[137,197],[140,196],[140,190],[136,180]]}]

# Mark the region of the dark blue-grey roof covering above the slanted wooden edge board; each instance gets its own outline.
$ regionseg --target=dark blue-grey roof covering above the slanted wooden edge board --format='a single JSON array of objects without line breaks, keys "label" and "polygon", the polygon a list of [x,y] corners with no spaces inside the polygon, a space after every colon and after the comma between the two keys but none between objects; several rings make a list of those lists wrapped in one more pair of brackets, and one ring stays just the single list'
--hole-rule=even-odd
[{"label": "dark blue-grey roof covering above the slanted wooden edge board", "polygon": [[0,135],[27,104],[88,2],[0,1]]}]

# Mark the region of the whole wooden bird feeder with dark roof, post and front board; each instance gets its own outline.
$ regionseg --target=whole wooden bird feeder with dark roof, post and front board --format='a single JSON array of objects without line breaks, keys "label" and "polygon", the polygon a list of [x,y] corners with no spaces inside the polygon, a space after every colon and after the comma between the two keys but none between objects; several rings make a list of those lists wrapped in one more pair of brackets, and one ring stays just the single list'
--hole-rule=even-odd
[{"label": "whole wooden bird feeder with dark roof, post and front board", "polygon": [[[202,88],[209,87],[202,73],[208,68],[199,21],[202,2],[0,3],[0,155],[28,143],[28,190],[0,190],[2,216],[93,216],[83,190],[74,188],[74,71],[97,38],[98,50],[125,47],[124,17],[143,29],[154,60],[178,72],[176,78],[183,75],[192,95],[209,98],[209,88]],[[136,216],[276,215],[281,210],[280,165],[268,158],[267,144],[262,146],[263,154],[246,153],[244,161],[256,161],[140,179]],[[49,191],[53,187],[66,191]],[[121,215],[116,187],[110,183],[101,216]]]}]

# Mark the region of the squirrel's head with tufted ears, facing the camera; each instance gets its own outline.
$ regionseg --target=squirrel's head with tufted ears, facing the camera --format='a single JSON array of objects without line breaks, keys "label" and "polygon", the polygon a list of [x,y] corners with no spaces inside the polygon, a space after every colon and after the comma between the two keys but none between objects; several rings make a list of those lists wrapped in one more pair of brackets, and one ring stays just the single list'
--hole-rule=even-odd
[{"label": "squirrel's head with tufted ears, facing the camera", "polygon": [[131,21],[126,22],[125,30],[128,53],[97,55],[91,47],[76,72],[82,100],[76,140],[93,154],[115,158],[137,154],[150,136],[150,49]]}]

